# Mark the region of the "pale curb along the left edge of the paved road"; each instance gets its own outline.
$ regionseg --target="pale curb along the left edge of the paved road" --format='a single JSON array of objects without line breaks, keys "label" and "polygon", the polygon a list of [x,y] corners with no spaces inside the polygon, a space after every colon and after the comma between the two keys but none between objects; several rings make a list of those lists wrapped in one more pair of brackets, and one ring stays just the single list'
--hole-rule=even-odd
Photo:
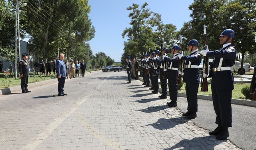
[{"label": "pale curb along the left edge of the paved road", "polygon": [[[97,70],[97,71],[92,71],[92,72],[99,72],[101,70]],[[85,74],[90,74],[90,72],[85,72]],[[58,83],[57,78],[55,79],[50,79],[50,80],[44,80],[44,81],[40,81],[40,82],[34,82],[34,83],[30,83],[28,84],[28,88],[34,88],[36,86],[42,86],[45,84],[55,84]],[[0,89],[0,95],[5,95],[5,94],[10,94],[16,91],[20,91],[21,92],[21,88],[20,86],[14,86],[14,87],[10,87],[10,88],[2,88]]]}]

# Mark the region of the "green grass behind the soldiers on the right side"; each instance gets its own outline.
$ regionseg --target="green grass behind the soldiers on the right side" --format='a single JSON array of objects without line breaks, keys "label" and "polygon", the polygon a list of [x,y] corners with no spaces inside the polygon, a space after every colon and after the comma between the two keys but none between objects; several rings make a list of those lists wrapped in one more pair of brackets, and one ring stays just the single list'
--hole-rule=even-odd
[{"label": "green grass behind the soldiers on the right side", "polygon": [[[235,99],[246,99],[244,94],[241,93],[241,90],[243,87],[249,86],[250,87],[250,83],[236,83],[234,84],[234,90],[232,91],[232,98]],[[198,94],[199,95],[208,95],[208,96],[212,96],[212,91],[211,91],[211,84],[208,84],[208,92],[201,92],[201,87],[199,85],[199,89],[198,89]],[[185,90],[185,84],[183,84],[181,90],[179,90],[178,92],[182,92],[182,93],[186,93]]]}]

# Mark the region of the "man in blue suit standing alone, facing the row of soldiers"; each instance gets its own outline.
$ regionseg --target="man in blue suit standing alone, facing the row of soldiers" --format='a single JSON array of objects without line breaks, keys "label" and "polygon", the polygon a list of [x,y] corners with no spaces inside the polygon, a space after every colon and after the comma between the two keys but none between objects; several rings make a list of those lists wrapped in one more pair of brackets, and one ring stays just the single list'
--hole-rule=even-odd
[{"label": "man in blue suit standing alone, facing the row of soldiers", "polygon": [[64,54],[60,54],[60,59],[56,62],[56,72],[58,76],[58,96],[67,95],[64,93],[64,85],[66,80],[66,64],[64,63]]}]

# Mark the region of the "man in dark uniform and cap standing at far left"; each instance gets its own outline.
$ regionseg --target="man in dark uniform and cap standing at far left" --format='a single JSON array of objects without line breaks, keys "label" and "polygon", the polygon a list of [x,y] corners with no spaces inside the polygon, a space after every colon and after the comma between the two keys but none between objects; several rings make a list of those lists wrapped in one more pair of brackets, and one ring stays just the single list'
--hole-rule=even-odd
[{"label": "man in dark uniform and cap standing at far left", "polygon": [[28,72],[29,72],[29,64],[28,64],[28,54],[22,54],[23,60],[19,62],[19,73],[20,73],[20,86],[22,93],[31,92],[28,90]]}]

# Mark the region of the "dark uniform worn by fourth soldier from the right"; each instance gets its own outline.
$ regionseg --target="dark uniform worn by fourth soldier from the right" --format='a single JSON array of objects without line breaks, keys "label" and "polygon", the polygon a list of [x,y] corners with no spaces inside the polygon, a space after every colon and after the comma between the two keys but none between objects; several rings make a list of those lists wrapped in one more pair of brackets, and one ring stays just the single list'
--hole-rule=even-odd
[{"label": "dark uniform worn by fourth soldier from the right", "polygon": [[167,95],[167,80],[163,79],[164,76],[164,59],[158,59],[158,65],[160,70],[160,84],[162,88],[162,96],[160,97],[166,97]]}]

